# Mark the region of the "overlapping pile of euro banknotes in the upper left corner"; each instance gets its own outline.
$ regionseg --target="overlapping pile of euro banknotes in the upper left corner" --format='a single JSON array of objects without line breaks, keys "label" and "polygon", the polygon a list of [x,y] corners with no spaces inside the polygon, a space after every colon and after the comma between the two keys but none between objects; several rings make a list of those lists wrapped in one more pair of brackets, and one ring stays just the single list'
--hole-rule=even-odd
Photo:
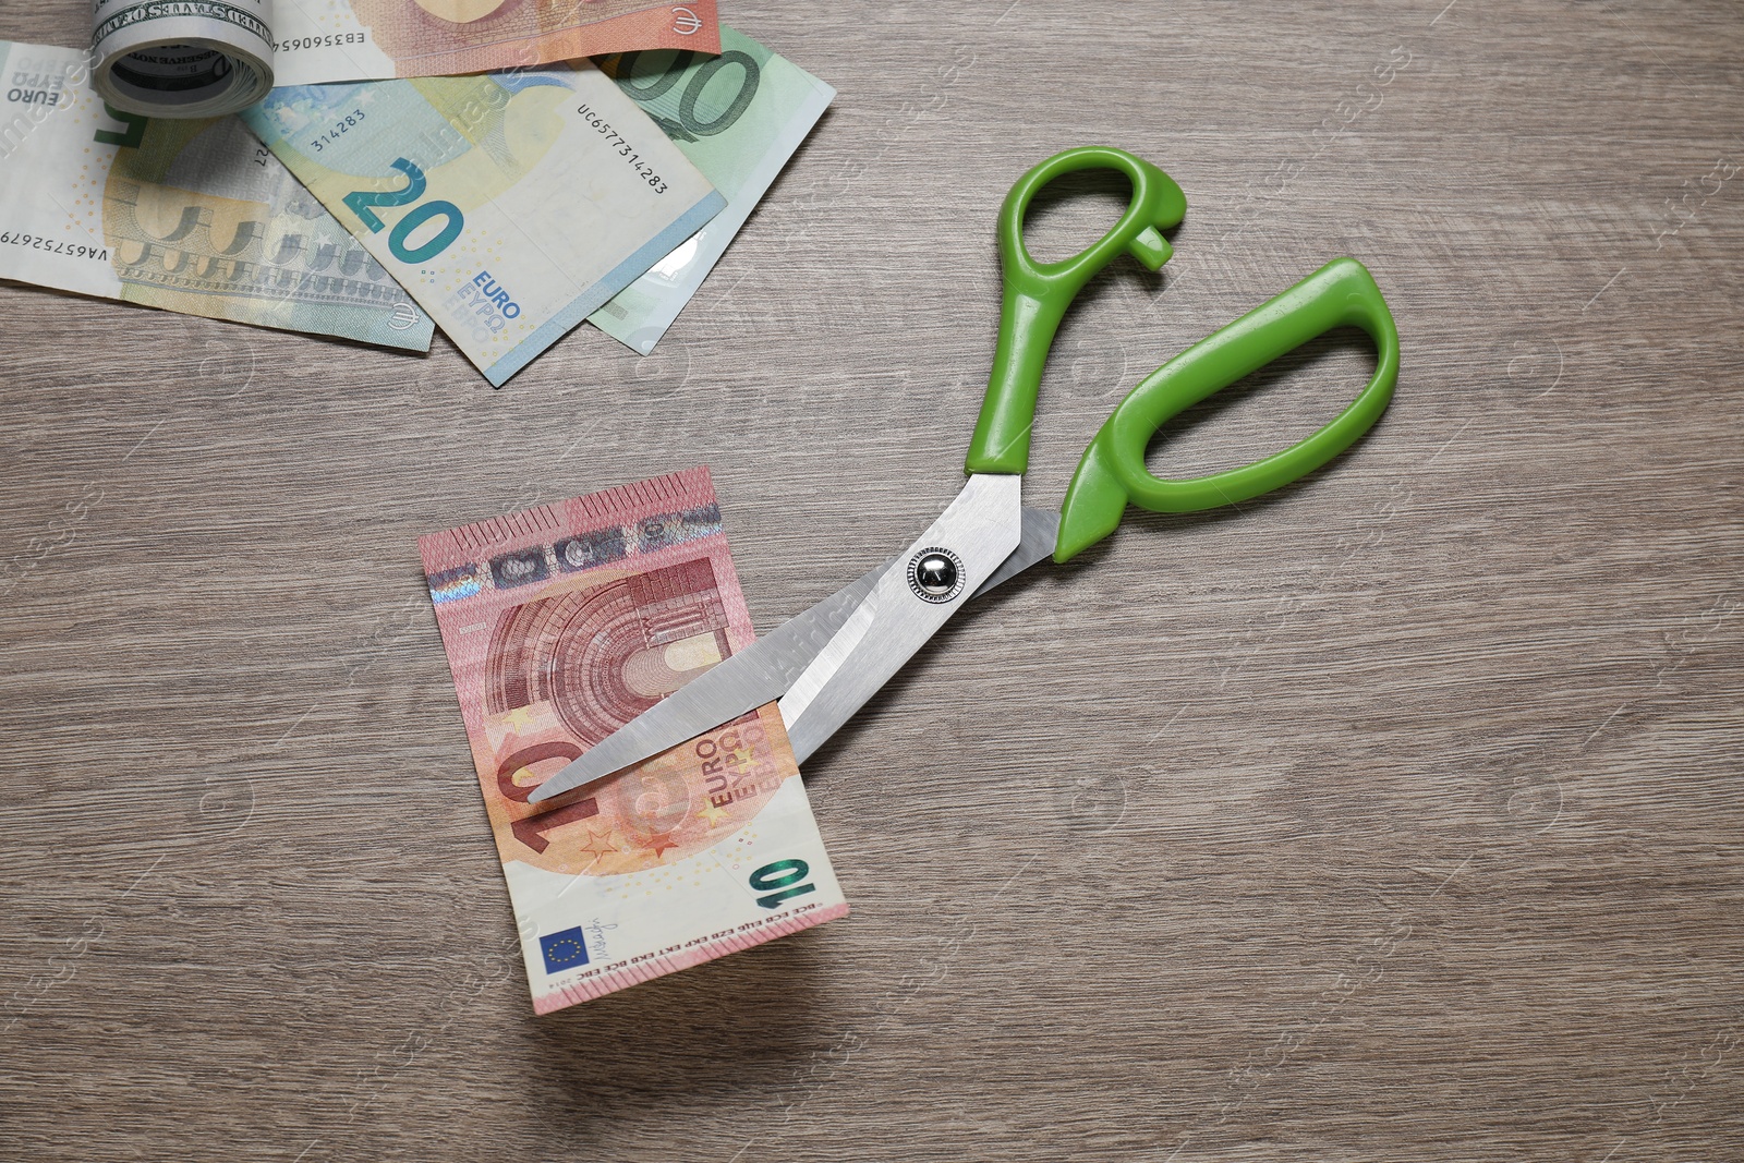
[{"label": "overlapping pile of euro banknotes in the upper left corner", "polygon": [[649,354],[835,96],[640,0],[98,0],[0,77],[0,279],[499,387],[582,319]]}]

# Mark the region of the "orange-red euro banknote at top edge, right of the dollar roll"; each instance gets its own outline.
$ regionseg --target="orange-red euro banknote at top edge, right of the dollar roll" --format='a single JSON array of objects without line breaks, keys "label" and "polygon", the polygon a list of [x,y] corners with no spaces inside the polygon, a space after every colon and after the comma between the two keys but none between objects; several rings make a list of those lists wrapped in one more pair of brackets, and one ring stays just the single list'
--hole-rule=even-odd
[{"label": "orange-red euro banknote at top edge, right of the dollar roll", "polygon": [[443,77],[633,49],[720,51],[715,0],[279,0],[281,85]]}]

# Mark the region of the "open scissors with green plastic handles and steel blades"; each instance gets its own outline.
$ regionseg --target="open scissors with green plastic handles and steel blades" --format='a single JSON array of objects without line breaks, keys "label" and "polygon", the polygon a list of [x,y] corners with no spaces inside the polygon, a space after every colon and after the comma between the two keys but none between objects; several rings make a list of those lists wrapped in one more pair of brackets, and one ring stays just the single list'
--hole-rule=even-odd
[{"label": "open scissors with green plastic handles and steel blades", "polygon": [[[1045,185],[1081,169],[1127,174],[1132,202],[1087,251],[1038,263],[1024,244],[1029,204]],[[1067,561],[1083,553],[1114,532],[1128,502],[1153,513],[1238,504],[1313,473],[1367,432],[1399,378],[1399,330],[1362,263],[1338,258],[1132,389],[1085,450],[1059,513],[1024,506],[1036,392],[1066,309],[1120,255],[1162,269],[1172,255],[1162,232],[1184,214],[1181,187],[1125,150],[1067,150],[1018,178],[999,209],[999,340],[957,499],[895,558],[666,696],[546,779],[530,800],[593,783],[771,699],[780,699],[794,755],[804,762],[971,598],[1045,556]],[[1146,446],[1170,417],[1336,326],[1367,331],[1378,361],[1331,424],[1224,473],[1191,479],[1149,473]]]}]

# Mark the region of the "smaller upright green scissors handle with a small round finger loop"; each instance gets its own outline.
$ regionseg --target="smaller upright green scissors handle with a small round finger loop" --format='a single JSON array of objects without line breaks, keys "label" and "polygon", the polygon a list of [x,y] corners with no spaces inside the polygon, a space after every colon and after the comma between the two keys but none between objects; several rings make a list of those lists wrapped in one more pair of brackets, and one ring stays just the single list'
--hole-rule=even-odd
[{"label": "smaller upright green scissors handle with a small round finger loop", "polygon": [[[1132,180],[1132,202],[1114,228],[1090,249],[1055,263],[1038,263],[1024,246],[1024,216],[1041,187],[1080,169],[1118,169]],[[1048,363],[1053,333],[1078,291],[1120,255],[1158,270],[1172,253],[1162,232],[1188,213],[1188,199],[1162,169],[1109,146],[1066,150],[1017,180],[999,207],[999,262],[1005,302],[992,378],[970,439],[970,473],[1022,473],[1029,467],[1029,431],[1036,420],[1036,389]]]}]

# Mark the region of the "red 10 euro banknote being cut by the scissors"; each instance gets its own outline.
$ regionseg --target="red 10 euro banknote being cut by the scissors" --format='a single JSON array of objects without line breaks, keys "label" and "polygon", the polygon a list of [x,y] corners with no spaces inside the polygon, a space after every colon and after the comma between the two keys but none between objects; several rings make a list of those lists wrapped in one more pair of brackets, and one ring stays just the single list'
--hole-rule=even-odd
[{"label": "red 10 euro banknote being cut by the scissors", "polygon": [[527,802],[752,643],[706,467],[419,549],[537,1013],[848,914],[773,703],[556,807]]}]

